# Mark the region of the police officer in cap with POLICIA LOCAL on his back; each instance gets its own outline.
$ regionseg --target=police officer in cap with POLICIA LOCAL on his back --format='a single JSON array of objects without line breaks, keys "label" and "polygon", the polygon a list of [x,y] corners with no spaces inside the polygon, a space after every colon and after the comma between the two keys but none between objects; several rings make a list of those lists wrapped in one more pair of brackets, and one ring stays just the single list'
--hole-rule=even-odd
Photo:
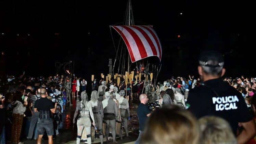
[{"label": "police officer in cap with POLICIA LOCAL on his back", "polygon": [[241,93],[225,83],[224,59],[216,51],[204,51],[199,57],[198,73],[202,83],[190,90],[186,108],[197,118],[214,115],[226,119],[236,135],[238,123],[244,130],[237,136],[238,143],[246,143],[255,136],[253,116]]}]

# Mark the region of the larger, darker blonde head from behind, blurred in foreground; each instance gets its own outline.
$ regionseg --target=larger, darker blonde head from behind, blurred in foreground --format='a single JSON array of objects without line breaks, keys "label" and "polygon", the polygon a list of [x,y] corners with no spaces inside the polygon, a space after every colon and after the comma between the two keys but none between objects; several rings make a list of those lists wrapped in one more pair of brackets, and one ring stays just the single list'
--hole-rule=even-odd
[{"label": "larger, darker blonde head from behind, blurred in foreground", "polygon": [[197,121],[187,110],[172,105],[154,111],[148,118],[143,144],[198,144]]}]

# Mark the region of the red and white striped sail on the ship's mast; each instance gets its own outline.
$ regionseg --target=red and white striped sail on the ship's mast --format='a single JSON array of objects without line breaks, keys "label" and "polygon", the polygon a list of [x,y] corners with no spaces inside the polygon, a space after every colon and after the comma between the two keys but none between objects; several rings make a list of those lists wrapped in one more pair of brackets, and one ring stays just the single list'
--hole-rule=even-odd
[{"label": "red and white striped sail on the ship's mast", "polygon": [[162,46],[152,26],[112,26],[123,38],[131,62],[149,56],[162,57]]}]

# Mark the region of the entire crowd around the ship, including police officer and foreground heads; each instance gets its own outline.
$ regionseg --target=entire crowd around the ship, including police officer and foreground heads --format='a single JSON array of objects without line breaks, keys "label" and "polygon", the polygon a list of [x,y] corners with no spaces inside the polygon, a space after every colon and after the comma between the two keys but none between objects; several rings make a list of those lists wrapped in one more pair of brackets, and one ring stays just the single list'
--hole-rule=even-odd
[{"label": "entire crowd around the ship, including police officer and foreground heads", "polygon": [[223,65],[219,53],[206,52],[199,60],[200,78],[171,77],[156,86],[145,77],[131,82],[121,79],[120,84],[113,78],[94,79],[91,93],[87,81],[77,77],[71,82],[64,75],[9,76],[6,81],[0,80],[1,143],[22,143],[21,137],[41,143],[45,131],[48,143],[53,143],[73,97],[77,144],[84,139],[82,133],[86,133],[87,143],[92,142],[95,133],[91,129],[95,129],[101,144],[104,136],[107,142],[110,140],[110,133],[115,143],[116,135],[123,138],[118,125],[129,136],[129,103],[134,99],[140,101],[136,144],[256,143],[256,78],[222,78]]}]

